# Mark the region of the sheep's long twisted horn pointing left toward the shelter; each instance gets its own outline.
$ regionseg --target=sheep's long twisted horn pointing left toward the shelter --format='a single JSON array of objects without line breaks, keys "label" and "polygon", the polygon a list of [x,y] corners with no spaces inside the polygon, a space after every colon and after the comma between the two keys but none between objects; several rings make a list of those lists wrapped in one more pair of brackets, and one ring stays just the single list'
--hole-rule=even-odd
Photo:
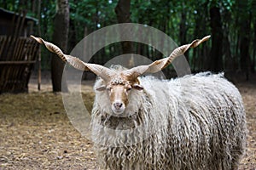
[{"label": "sheep's long twisted horn pointing left toward the shelter", "polygon": [[74,68],[80,71],[92,71],[98,77],[102,77],[102,79],[106,82],[108,82],[110,80],[110,77],[112,77],[115,74],[114,71],[102,65],[84,63],[84,61],[82,61],[81,59],[78,59],[71,55],[63,54],[61,49],[55,46],[55,44],[51,42],[46,42],[41,37],[33,37],[33,36],[30,36],[30,37],[35,39],[37,42],[44,44],[45,47],[49,49],[50,52],[57,54],[63,61],[67,62],[68,64],[72,65]]}]

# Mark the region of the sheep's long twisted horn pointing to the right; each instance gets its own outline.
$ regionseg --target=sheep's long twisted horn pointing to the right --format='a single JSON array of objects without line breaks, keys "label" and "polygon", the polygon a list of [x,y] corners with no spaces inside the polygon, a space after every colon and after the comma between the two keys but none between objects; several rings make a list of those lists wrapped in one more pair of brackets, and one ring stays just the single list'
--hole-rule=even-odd
[{"label": "sheep's long twisted horn pointing to the right", "polygon": [[139,65],[137,67],[131,68],[130,70],[125,71],[125,75],[127,77],[130,77],[130,79],[135,79],[139,76],[141,76],[143,73],[149,72],[154,73],[161,71],[162,69],[166,68],[167,65],[170,65],[172,63],[172,60],[177,58],[177,56],[180,56],[184,54],[189,48],[195,48],[201,42],[207,41],[211,36],[203,37],[202,39],[194,40],[193,42],[180,46],[172,51],[172,54],[170,54],[169,57],[166,57],[164,59],[159,59],[154,61],[150,65]]}]

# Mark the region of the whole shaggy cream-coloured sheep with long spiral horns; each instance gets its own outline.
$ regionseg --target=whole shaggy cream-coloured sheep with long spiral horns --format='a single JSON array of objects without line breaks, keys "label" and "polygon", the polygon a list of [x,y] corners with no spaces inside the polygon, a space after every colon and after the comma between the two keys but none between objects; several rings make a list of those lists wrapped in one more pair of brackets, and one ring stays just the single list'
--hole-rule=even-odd
[{"label": "whole shaggy cream-coloured sheep with long spiral horns", "polygon": [[84,63],[42,38],[49,51],[82,71],[92,71],[96,99],[92,139],[104,169],[236,169],[246,145],[241,94],[222,73],[172,80],[141,77],[161,71],[201,40],[164,59],[129,70]]}]

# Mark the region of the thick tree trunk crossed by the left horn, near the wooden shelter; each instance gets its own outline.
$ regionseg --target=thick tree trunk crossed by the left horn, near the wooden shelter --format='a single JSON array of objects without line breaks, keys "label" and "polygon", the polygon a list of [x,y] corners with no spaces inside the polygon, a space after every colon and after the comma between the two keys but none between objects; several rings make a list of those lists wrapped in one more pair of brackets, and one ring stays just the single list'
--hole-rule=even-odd
[{"label": "thick tree trunk crossed by the left horn, near the wooden shelter", "polygon": [[[53,32],[53,42],[67,53],[67,37],[69,28],[69,7],[68,0],[57,0],[57,9],[54,20],[54,32]],[[61,92],[61,82],[62,82],[62,92],[67,92],[67,82],[66,79],[62,79],[62,73],[65,63],[58,57],[52,56],[51,59],[51,79],[52,87],[54,92]]]}]

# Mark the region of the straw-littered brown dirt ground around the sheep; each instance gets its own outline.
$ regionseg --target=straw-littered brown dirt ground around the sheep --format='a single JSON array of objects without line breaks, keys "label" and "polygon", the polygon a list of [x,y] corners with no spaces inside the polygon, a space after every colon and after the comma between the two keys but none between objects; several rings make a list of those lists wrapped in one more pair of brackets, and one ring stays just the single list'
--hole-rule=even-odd
[{"label": "straw-littered brown dirt ground around the sheep", "polygon": [[[51,93],[49,79],[38,92],[0,95],[0,169],[96,169],[91,142],[73,127],[61,94]],[[91,108],[94,94],[85,82],[83,99]],[[256,169],[256,84],[239,83],[247,111],[247,153],[239,169]]]}]

